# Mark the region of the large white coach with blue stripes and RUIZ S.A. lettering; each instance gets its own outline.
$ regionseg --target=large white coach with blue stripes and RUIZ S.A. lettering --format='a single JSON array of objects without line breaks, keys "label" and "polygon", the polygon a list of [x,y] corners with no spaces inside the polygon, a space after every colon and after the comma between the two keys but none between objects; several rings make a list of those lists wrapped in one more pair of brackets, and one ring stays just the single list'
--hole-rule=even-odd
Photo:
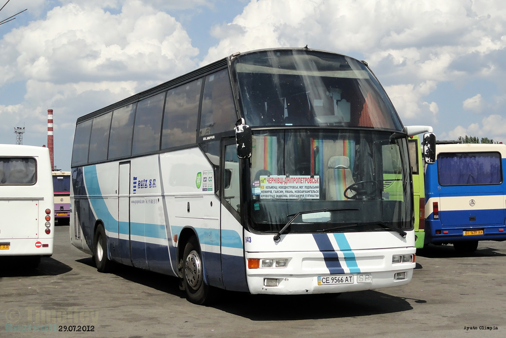
[{"label": "large white coach with blue stripes and RUIZ S.A. lettering", "polygon": [[[73,245],[216,288],[340,293],[414,264],[408,135],[365,62],[235,53],[77,120]],[[432,134],[433,135],[433,134]],[[429,149],[430,150],[430,149]]]}]

